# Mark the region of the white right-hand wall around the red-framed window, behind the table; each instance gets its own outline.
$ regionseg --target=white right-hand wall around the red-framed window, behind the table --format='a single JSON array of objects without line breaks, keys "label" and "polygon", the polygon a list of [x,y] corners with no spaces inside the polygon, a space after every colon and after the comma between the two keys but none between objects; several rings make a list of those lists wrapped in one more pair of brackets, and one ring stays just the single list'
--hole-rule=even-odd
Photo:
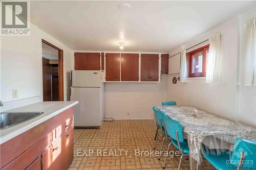
[{"label": "white right-hand wall around the red-framed window, behind the table", "polygon": [[[168,76],[167,100],[175,100],[178,105],[195,106],[210,113],[256,127],[255,87],[247,87],[246,90],[243,90],[243,94],[240,93],[239,100],[239,87],[237,85],[239,25],[239,17],[234,17],[209,32],[199,35],[194,40],[184,43],[185,48],[188,48],[208,39],[213,33],[221,33],[222,82],[206,84],[205,79],[189,78],[187,83],[178,81],[177,84],[173,84],[173,76]],[[181,47],[177,47],[169,55],[178,52],[181,52]],[[239,116],[238,112],[243,112],[243,116]]]}]

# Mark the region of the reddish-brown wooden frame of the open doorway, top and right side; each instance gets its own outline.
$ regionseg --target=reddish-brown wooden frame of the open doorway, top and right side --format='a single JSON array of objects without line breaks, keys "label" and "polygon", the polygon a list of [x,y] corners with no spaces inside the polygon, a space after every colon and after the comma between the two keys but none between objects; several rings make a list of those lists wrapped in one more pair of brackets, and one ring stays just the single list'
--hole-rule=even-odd
[{"label": "reddish-brown wooden frame of the open doorway, top and right side", "polygon": [[46,40],[42,39],[42,43],[45,43],[47,45],[50,45],[51,47],[55,48],[58,50],[58,66],[59,66],[59,101],[63,101],[63,50],[58,48],[57,46],[51,44],[50,42],[47,42]]}]

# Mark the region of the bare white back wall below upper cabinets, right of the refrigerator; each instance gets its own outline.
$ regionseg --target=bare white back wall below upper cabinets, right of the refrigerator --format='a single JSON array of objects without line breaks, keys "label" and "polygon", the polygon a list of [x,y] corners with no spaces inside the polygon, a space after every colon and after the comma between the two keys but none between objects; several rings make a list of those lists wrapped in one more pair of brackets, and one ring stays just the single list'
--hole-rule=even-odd
[{"label": "bare white back wall below upper cabinets, right of the refrigerator", "polygon": [[104,116],[152,119],[153,106],[166,101],[166,78],[166,75],[161,75],[160,83],[104,83]]}]

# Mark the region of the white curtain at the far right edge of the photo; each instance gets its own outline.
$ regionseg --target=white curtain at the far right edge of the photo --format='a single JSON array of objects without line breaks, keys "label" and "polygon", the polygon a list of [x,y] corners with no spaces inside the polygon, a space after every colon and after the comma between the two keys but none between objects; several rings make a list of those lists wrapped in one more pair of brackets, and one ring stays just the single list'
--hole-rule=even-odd
[{"label": "white curtain at the far right edge of the photo", "polygon": [[244,25],[244,47],[242,51],[238,84],[256,85],[256,26],[255,19]]}]

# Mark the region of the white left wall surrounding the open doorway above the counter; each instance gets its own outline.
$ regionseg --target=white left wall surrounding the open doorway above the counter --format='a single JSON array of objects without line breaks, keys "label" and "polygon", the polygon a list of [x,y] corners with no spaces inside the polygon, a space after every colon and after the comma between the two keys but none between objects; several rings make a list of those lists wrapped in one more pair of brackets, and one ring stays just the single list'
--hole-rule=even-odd
[{"label": "white left wall surrounding the open doorway above the counter", "polygon": [[[42,101],[41,39],[63,50],[63,88],[67,100],[67,76],[73,66],[74,52],[34,25],[30,26],[30,36],[1,36],[0,100],[4,103],[1,111]],[[18,89],[17,99],[12,99],[13,89]]]}]

